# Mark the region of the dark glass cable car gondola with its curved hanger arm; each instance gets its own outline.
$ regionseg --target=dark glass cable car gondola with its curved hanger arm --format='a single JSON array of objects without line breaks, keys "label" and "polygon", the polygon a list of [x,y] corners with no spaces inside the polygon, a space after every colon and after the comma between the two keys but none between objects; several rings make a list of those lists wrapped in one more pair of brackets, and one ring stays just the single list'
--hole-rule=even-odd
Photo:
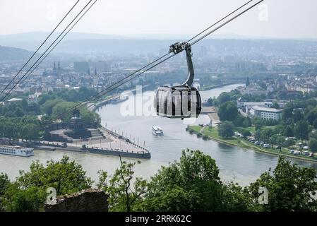
[{"label": "dark glass cable car gondola with its curved hanger arm", "polygon": [[193,62],[191,61],[191,44],[177,42],[169,47],[169,52],[178,54],[186,51],[189,76],[185,83],[177,86],[162,86],[155,95],[157,115],[171,119],[198,117],[201,113],[201,95],[193,85]]}]

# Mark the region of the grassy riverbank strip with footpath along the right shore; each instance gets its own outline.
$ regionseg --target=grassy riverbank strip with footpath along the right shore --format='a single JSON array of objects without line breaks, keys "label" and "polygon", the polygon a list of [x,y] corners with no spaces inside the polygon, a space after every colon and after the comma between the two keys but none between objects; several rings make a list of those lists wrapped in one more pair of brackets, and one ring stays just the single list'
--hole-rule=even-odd
[{"label": "grassy riverbank strip with footpath along the right shore", "polygon": [[210,127],[208,126],[188,126],[188,129],[186,129],[186,131],[189,131],[189,133],[195,133],[198,138],[203,138],[204,140],[207,139],[211,139],[213,141],[217,141],[219,143],[225,143],[227,145],[234,145],[237,146],[239,148],[244,148],[244,149],[252,149],[252,150],[256,150],[258,152],[261,153],[267,153],[270,155],[278,155],[278,156],[285,156],[285,157],[290,157],[290,158],[294,158],[297,160],[304,160],[307,162],[317,162],[317,158],[316,157],[308,157],[308,156],[298,156],[298,155],[292,155],[290,153],[288,153],[288,149],[287,148],[282,148],[282,151],[277,150],[277,149],[273,149],[273,148],[262,148],[259,147],[258,145],[254,145],[253,143],[244,140],[243,138],[221,138],[218,135],[218,131],[217,128],[212,127],[210,129]]}]

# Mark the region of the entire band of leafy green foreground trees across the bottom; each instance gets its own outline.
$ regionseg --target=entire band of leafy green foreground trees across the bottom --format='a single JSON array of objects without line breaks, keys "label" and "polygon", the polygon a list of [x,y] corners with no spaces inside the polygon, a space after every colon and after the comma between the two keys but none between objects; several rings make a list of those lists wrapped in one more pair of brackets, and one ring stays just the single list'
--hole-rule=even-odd
[{"label": "entire band of leafy green foreground trees across the bottom", "polygon": [[[261,174],[249,186],[222,182],[210,155],[183,150],[179,161],[161,169],[148,180],[138,178],[140,162],[122,160],[113,175],[100,171],[97,182],[81,165],[64,156],[46,165],[33,162],[15,181],[0,174],[0,211],[43,211],[47,189],[56,196],[97,187],[107,194],[109,211],[220,211],[275,212],[316,211],[317,172],[298,167],[280,157],[274,170]],[[49,191],[51,191],[49,190]],[[282,192],[281,192],[282,191]],[[91,204],[91,203],[90,203]]]}]

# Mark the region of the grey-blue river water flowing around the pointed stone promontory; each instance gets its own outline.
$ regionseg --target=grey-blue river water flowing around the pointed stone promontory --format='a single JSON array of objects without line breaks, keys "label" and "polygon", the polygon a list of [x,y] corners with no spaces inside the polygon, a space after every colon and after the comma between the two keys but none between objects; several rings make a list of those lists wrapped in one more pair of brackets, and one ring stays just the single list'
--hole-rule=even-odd
[{"label": "grey-blue river water flowing around the pointed stone promontory", "polygon": [[[237,86],[227,85],[222,88],[202,91],[202,100],[206,100],[209,97],[217,97],[220,93],[228,92]],[[151,159],[141,160],[140,165],[136,166],[136,176],[149,178],[162,165],[168,165],[169,162],[178,160],[181,156],[181,150],[186,148],[202,150],[203,153],[211,155],[220,168],[220,177],[224,182],[234,180],[234,182],[238,182],[243,186],[254,182],[263,172],[276,166],[278,157],[275,155],[245,150],[215,141],[203,141],[203,139],[197,138],[196,135],[191,135],[185,131],[189,123],[207,124],[210,121],[207,115],[201,115],[193,122],[153,116],[153,94],[151,91],[145,92],[143,96],[138,96],[142,99],[137,99],[135,95],[131,94],[125,102],[106,105],[97,111],[102,118],[103,126],[107,124],[109,129],[124,133],[124,136],[128,136],[140,145],[145,145],[151,151]],[[138,110],[134,110],[133,106],[134,109]],[[143,110],[140,111],[139,109]],[[152,126],[160,126],[165,136],[153,136],[151,132]],[[32,161],[39,160],[45,163],[51,159],[60,160],[63,155],[68,155],[71,160],[83,165],[87,175],[95,181],[97,180],[98,170],[104,169],[109,174],[112,174],[119,167],[118,157],[35,150],[35,156],[32,157],[0,155],[0,172],[6,172],[11,179],[14,179],[18,176],[20,169],[28,170]],[[317,169],[316,163],[301,160],[292,161],[304,167]]]}]

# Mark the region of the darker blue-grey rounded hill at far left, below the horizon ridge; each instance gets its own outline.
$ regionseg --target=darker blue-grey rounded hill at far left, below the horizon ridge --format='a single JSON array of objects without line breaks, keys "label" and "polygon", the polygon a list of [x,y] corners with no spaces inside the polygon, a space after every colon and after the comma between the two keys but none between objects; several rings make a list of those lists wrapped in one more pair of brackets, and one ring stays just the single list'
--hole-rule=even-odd
[{"label": "darker blue-grey rounded hill at far left, below the horizon ridge", "polygon": [[32,52],[25,49],[3,47],[0,45],[0,62],[26,61]]}]

